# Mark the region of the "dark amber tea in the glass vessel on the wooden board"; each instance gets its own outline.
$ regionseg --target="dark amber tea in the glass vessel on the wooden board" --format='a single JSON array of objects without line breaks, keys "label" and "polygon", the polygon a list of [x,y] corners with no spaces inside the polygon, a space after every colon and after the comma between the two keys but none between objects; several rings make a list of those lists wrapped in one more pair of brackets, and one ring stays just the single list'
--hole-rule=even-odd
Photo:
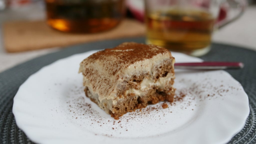
[{"label": "dark amber tea in the glass vessel on the wooden board", "polygon": [[119,24],[124,16],[124,0],[46,0],[47,23],[64,32],[96,33]]}]

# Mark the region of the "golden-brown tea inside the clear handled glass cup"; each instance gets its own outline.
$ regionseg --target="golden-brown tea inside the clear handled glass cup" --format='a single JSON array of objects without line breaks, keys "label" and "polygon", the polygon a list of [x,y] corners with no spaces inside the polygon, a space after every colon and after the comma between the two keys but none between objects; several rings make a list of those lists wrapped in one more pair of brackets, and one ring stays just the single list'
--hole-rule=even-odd
[{"label": "golden-brown tea inside the clear handled glass cup", "polygon": [[174,51],[193,51],[210,45],[215,19],[200,10],[169,10],[147,14],[147,43]]}]

